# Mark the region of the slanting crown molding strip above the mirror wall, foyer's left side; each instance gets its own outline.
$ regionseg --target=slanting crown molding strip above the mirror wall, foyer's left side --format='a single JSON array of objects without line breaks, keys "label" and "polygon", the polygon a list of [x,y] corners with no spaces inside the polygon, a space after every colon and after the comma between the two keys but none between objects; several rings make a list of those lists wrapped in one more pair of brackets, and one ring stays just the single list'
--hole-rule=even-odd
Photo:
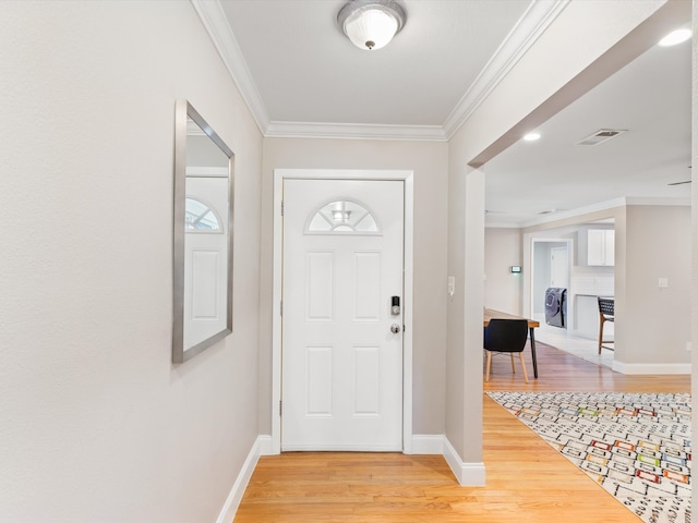
[{"label": "slanting crown molding strip above the mirror wall, foyer's left side", "polygon": [[244,61],[240,46],[238,46],[238,40],[236,40],[236,36],[228,24],[220,0],[190,1],[214,42],[218,54],[220,54],[220,59],[228,69],[232,81],[238,86],[242,99],[250,108],[252,118],[254,118],[260,131],[264,134],[269,124],[269,114],[252,78],[248,63]]}]

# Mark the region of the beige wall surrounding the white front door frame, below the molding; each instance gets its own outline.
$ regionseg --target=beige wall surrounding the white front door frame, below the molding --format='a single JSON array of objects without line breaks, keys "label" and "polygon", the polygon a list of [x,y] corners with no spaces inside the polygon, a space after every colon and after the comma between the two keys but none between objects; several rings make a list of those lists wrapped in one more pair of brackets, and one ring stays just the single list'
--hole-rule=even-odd
[{"label": "beige wall surrounding the white front door frame, below the molding", "polygon": [[274,169],[398,169],[414,171],[413,434],[444,431],[446,348],[447,145],[363,139],[265,138],[263,197],[263,319],[260,426],[272,415]]}]

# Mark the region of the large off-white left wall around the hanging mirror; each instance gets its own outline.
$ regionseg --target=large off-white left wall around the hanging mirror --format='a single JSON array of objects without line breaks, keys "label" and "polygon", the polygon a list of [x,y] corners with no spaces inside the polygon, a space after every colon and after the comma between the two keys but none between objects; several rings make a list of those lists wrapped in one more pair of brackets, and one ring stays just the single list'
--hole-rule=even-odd
[{"label": "large off-white left wall around the hanging mirror", "polygon": [[[213,522],[258,434],[262,139],[189,2],[0,2],[0,521]],[[234,333],[173,366],[174,100],[237,154]]]}]

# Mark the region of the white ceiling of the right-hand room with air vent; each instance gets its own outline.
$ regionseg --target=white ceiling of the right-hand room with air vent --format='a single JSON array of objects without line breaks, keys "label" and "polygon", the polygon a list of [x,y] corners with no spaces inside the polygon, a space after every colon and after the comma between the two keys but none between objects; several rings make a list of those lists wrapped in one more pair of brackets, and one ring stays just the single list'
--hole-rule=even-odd
[{"label": "white ceiling of the right-hand room with air vent", "polygon": [[[690,180],[690,42],[651,48],[539,126],[540,141],[488,162],[486,221],[530,223],[623,197],[688,200],[690,184],[667,184]],[[576,145],[600,129],[627,132]]]}]

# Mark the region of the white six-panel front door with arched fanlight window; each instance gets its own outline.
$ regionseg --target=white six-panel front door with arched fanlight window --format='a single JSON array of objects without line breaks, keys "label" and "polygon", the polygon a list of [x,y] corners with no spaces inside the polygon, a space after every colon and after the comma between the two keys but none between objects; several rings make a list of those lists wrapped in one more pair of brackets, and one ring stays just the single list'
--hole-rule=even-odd
[{"label": "white six-panel front door with arched fanlight window", "polygon": [[284,451],[402,450],[404,200],[402,181],[284,182]]}]

